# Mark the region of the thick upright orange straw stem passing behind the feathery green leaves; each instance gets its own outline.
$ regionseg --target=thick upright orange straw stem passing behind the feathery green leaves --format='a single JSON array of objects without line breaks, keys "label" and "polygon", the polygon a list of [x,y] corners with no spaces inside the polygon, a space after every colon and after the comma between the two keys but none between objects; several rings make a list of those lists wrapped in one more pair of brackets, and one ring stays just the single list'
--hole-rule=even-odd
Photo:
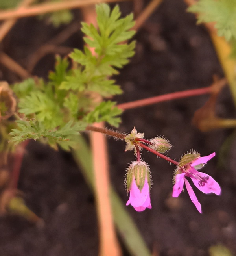
[{"label": "thick upright orange straw stem passing behind the feathery green leaves", "polygon": [[[96,24],[96,12],[94,6],[87,6],[82,9],[85,22]],[[93,49],[90,49],[93,52]],[[98,95],[98,101],[102,98]],[[94,124],[94,126],[103,129],[104,123]],[[109,181],[109,163],[107,153],[107,141],[103,134],[92,132],[90,135],[95,197],[99,223],[100,237],[100,256],[121,256],[122,252],[116,238],[116,232],[113,222],[111,198],[110,198],[110,181]]]}]

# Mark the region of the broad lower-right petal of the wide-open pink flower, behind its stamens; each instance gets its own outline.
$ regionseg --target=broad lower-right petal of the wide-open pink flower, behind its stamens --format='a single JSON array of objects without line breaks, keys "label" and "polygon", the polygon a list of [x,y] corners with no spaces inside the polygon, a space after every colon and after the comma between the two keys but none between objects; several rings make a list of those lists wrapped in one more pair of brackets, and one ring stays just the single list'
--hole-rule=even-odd
[{"label": "broad lower-right petal of the wide-open pink flower, behind its stamens", "polygon": [[201,177],[209,177],[207,183],[205,183],[204,186],[199,186],[199,181],[191,178],[194,182],[194,185],[205,194],[215,193],[216,195],[220,195],[221,188],[219,184],[212,178],[212,176],[201,172],[199,172],[199,174]]}]

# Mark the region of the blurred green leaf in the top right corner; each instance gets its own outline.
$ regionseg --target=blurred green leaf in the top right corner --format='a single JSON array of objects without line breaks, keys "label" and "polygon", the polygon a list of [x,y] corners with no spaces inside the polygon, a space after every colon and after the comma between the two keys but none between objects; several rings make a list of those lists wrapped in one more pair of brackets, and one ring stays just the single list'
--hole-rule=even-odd
[{"label": "blurred green leaf in the top right corner", "polygon": [[198,14],[198,23],[215,22],[219,36],[236,39],[236,0],[199,0],[188,11]]}]

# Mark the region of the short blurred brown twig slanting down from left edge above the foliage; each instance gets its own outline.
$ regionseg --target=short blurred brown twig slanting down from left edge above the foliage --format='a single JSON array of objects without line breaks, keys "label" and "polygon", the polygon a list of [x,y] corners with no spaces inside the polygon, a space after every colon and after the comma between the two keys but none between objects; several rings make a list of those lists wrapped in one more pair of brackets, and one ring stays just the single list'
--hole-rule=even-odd
[{"label": "short blurred brown twig slanting down from left edge above the foliage", "polygon": [[6,53],[0,52],[0,62],[10,69],[11,71],[15,72],[21,78],[28,78],[31,76],[30,73],[27,72],[23,67],[21,67],[15,60],[10,58]]}]

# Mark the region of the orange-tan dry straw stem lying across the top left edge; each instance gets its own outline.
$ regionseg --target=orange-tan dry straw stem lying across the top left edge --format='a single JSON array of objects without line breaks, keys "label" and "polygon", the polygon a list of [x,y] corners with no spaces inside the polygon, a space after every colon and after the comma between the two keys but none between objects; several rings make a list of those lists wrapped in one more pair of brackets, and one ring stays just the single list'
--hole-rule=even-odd
[{"label": "orange-tan dry straw stem lying across the top left edge", "polygon": [[[119,1],[124,1],[124,0],[119,0]],[[44,13],[61,11],[65,9],[76,9],[76,8],[81,8],[81,7],[90,6],[94,4],[99,4],[101,2],[111,3],[111,2],[117,2],[117,0],[103,0],[103,1],[101,0],[65,0],[63,2],[37,4],[35,6],[28,7],[28,8],[1,11],[0,20],[17,19],[22,17],[41,15]]]}]

